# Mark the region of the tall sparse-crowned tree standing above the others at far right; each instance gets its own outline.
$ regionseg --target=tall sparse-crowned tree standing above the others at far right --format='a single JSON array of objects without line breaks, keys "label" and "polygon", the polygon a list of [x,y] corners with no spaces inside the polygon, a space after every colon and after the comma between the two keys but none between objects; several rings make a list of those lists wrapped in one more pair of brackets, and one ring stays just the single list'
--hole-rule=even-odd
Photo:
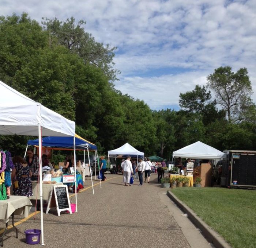
[{"label": "tall sparse-crowned tree standing above the others at far right", "polygon": [[240,121],[241,106],[251,103],[252,86],[247,69],[241,68],[234,73],[230,66],[219,67],[207,80],[207,86],[215,92],[217,104],[227,112],[229,122]]}]

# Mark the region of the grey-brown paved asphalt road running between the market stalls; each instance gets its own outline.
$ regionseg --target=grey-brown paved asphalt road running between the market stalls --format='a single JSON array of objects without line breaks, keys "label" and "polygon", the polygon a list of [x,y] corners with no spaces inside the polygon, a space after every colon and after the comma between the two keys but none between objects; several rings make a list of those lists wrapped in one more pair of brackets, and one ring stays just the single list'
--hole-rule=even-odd
[{"label": "grey-brown paved asphalt road running between the market stalls", "polygon": [[[124,186],[121,175],[107,175],[108,180],[94,180],[92,188],[78,193],[78,212],[56,210],[44,214],[44,246],[113,248],[210,248],[210,244],[166,195],[166,189],[151,174],[151,183]],[[94,177],[93,177],[94,178]],[[86,177],[84,187],[91,180]],[[71,202],[75,202],[73,196]],[[35,218],[35,220],[34,220]],[[25,229],[41,229],[40,214],[19,224],[19,238],[13,229],[5,236],[4,247],[28,247]],[[15,216],[15,221],[19,221]],[[0,223],[3,227],[3,222]],[[36,246],[36,245],[34,245]]]}]

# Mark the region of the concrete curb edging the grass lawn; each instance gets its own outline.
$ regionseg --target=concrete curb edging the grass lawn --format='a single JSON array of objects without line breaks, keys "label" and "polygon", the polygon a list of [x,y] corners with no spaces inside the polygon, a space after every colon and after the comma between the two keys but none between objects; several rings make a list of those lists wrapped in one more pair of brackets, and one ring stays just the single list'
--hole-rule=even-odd
[{"label": "concrete curb edging the grass lawn", "polygon": [[232,248],[222,236],[220,236],[217,232],[210,228],[210,226],[202,221],[191,208],[180,201],[172,192],[167,191],[167,195],[184,213],[188,214],[189,219],[202,231],[203,236],[209,243],[212,243],[216,248]]}]

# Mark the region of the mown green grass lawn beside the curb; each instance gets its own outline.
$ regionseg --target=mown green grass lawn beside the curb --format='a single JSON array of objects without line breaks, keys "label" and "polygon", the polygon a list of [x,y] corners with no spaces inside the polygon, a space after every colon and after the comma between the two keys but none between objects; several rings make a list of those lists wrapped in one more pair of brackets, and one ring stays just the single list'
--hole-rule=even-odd
[{"label": "mown green grass lawn beside the curb", "polygon": [[233,248],[256,248],[256,190],[182,187],[171,191]]}]

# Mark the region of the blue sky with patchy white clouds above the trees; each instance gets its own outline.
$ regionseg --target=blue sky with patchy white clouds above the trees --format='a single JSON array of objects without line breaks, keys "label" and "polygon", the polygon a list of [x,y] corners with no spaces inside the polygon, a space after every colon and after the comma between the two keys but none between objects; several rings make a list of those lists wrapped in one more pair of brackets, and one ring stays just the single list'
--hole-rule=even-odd
[{"label": "blue sky with patchy white clouds above the trees", "polygon": [[116,88],[151,109],[178,109],[179,94],[220,66],[246,67],[256,102],[255,0],[0,0],[0,15],[27,12],[86,20],[98,42],[116,46]]}]

